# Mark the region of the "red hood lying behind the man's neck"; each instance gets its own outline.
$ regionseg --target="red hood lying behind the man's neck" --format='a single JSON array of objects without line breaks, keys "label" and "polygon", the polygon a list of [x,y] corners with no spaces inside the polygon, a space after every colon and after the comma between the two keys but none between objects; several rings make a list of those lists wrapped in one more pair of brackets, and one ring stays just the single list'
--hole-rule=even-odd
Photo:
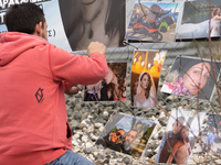
[{"label": "red hood lying behind the man's neck", "polygon": [[18,32],[6,32],[0,34],[0,67],[9,64],[21,53],[46,45],[49,42],[42,37]]}]

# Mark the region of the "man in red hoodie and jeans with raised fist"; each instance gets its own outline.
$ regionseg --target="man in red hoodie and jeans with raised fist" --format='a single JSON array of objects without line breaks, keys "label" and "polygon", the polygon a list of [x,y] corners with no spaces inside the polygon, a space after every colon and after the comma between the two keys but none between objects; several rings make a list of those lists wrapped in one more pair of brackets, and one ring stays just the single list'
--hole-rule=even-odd
[{"label": "man in red hoodie and jeans with raised fist", "polygon": [[93,164],[72,152],[64,91],[107,74],[106,46],[73,55],[50,44],[42,9],[11,6],[0,34],[0,164]]}]

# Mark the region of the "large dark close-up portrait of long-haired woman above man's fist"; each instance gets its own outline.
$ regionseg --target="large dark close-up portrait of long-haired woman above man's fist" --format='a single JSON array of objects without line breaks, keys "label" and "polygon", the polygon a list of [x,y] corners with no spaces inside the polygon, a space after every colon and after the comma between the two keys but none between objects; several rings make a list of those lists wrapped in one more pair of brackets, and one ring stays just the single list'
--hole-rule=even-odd
[{"label": "large dark close-up portrait of long-haired woman above man's fist", "polygon": [[59,0],[64,31],[73,51],[97,41],[107,47],[123,46],[125,0]]}]

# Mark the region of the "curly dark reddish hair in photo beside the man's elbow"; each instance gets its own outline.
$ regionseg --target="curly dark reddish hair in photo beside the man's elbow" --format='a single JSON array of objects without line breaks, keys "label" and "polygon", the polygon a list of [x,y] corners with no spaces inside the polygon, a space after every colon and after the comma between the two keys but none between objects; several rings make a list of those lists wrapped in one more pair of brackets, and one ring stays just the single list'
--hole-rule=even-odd
[{"label": "curly dark reddish hair in photo beside the man's elbow", "polygon": [[[126,78],[126,63],[108,63],[108,67],[112,69],[114,75],[117,77],[118,89],[122,98],[126,98],[123,96],[124,91],[126,91],[125,87],[125,78]],[[112,99],[114,100],[115,85],[113,82],[107,85],[107,91],[112,92]]]}]

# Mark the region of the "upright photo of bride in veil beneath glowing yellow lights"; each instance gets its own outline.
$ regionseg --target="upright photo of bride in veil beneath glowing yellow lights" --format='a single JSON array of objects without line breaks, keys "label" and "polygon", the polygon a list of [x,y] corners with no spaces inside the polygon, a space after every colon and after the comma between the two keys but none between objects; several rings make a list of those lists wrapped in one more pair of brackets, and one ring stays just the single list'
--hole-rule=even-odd
[{"label": "upright photo of bride in veil beneath glowing yellow lights", "polygon": [[155,108],[161,66],[166,51],[140,50],[134,52],[130,98],[134,107]]}]

